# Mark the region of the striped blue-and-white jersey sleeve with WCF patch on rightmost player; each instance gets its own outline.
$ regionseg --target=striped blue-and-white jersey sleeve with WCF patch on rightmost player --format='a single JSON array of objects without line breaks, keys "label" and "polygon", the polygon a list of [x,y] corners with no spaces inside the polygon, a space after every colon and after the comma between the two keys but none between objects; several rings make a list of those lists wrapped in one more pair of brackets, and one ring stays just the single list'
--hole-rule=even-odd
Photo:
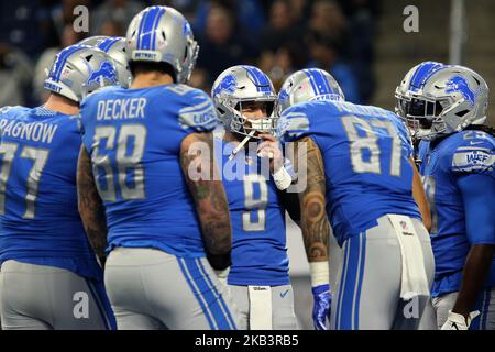
[{"label": "striped blue-and-white jersey sleeve with WCF patch on rightmost player", "polygon": [[451,168],[454,173],[487,174],[495,166],[495,139],[483,131],[462,131],[453,145]]}]

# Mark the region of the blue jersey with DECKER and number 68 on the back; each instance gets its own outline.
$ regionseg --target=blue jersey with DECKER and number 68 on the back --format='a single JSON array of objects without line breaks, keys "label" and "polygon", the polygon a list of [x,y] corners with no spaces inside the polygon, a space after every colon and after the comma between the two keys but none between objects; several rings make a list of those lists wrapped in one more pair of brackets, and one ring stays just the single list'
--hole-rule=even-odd
[{"label": "blue jersey with DECKER and number 68 on the back", "polygon": [[114,246],[205,256],[196,208],[180,167],[180,143],[212,130],[210,98],[185,85],[110,87],[81,106],[82,140]]}]

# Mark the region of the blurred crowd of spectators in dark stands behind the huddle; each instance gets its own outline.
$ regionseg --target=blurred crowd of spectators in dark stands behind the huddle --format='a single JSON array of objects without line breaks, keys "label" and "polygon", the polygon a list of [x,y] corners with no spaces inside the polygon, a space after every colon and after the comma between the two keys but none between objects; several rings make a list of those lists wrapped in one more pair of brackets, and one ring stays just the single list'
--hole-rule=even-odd
[{"label": "blurred crowd of spectators in dark stands behind the huddle", "polygon": [[[89,9],[89,33],[76,33],[73,10]],[[350,101],[371,101],[372,0],[16,0],[0,4],[0,106],[43,101],[45,68],[54,55],[86,36],[124,36],[147,6],[172,6],[190,21],[200,45],[191,85],[209,92],[215,78],[239,64],[257,65],[276,88],[292,72],[329,70]]]}]

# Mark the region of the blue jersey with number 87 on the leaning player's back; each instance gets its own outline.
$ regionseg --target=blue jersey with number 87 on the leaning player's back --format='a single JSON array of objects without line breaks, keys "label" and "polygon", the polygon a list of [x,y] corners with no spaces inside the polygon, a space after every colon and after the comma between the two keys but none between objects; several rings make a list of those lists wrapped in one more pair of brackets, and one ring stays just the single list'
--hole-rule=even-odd
[{"label": "blue jersey with number 87 on the leaning player's back", "polygon": [[342,245],[386,213],[421,218],[413,198],[413,146],[403,123],[386,110],[309,101],[284,111],[284,142],[310,136],[321,151],[327,213]]}]

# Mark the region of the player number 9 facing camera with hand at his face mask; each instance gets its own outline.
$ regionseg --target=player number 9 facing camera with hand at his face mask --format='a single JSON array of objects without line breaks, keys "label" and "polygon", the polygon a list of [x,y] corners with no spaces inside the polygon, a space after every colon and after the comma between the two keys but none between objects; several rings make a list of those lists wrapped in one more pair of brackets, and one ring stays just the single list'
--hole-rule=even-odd
[{"label": "player number 9 facing camera with hand at his face mask", "polygon": [[223,122],[215,131],[215,146],[232,220],[227,282],[240,310],[240,328],[296,329],[285,210],[297,220],[299,209],[294,209],[297,195],[285,191],[292,177],[274,135],[277,95],[261,69],[240,65],[219,75],[211,96]]}]

